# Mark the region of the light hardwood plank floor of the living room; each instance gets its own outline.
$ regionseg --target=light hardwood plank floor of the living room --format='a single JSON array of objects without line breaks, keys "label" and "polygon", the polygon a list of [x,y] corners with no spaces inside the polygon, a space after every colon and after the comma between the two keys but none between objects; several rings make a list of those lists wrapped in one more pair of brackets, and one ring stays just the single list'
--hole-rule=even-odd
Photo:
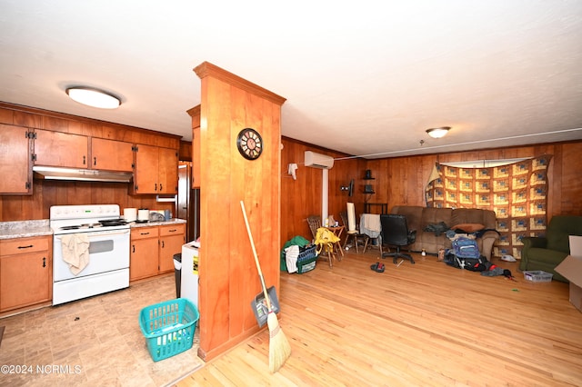
[{"label": "light hardwood plank floor of the living room", "polygon": [[582,385],[582,313],[567,283],[530,283],[448,267],[370,264],[377,250],[281,273],[279,323],[292,348],[268,372],[268,331],[177,382],[195,385]]}]

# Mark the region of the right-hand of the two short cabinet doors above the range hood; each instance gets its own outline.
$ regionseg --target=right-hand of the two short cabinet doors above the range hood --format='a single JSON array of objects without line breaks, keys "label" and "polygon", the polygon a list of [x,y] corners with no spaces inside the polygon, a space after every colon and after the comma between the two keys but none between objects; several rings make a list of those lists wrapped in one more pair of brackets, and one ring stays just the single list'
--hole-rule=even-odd
[{"label": "right-hand of the two short cabinet doors above the range hood", "polygon": [[123,141],[91,139],[92,169],[132,172],[134,170],[134,144]]}]

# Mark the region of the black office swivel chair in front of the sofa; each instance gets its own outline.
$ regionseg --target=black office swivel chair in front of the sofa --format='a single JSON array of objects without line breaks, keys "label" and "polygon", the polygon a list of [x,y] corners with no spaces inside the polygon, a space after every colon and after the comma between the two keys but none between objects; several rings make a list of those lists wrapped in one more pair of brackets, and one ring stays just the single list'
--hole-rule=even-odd
[{"label": "black office swivel chair in front of the sofa", "polygon": [[404,258],[415,263],[412,255],[400,253],[400,247],[407,246],[416,241],[416,230],[408,230],[406,217],[395,213],[383,213],[380,215],[380,224],[382,224],[382,243],[396,246],[396,253],[384,253],[383,257],[393,257],[396,263],[398,258]]}]

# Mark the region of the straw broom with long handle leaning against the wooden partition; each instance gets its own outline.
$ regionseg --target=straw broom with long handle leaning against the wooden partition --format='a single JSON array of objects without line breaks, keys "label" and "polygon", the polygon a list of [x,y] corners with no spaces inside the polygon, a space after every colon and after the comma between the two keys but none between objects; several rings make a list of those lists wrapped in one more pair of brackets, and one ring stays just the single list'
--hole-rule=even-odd
[{"label": "straw broom with long handle leaning against the wooden partition", "polygon": [[263,272],[261,271],[261,265],[258,263],[258,256],[256,255],[255,242],[253,241],[253,235],[251,233],[251,228],[248,225],[248,219],[246,218],[245,203],[240,201],[240,207],[243,211],[243,216],[245,217],[246,233],[248,233],[248,239],[251,241],[251,247],[253,248],[253,255],[255,256],[256,270],[258,271],[258,276],[261,279],[261,286],[263,287],[263,293],[265,294],[266,307],[268,309],[266,324],[269,327],[269,371],[276,372],[285,363],[287,358],[291,355],[291,346],[287,341],[285,333],[279,327],[279,322],[276,319],[276,314],[273,312],[271,306],[271,299],[266,291],[265,278],[263,278]]}]

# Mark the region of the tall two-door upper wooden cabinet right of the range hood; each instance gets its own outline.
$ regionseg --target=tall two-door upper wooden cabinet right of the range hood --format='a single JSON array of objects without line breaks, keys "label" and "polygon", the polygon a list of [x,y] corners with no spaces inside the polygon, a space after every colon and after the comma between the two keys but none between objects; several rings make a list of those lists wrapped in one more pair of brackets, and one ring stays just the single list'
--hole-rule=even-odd
[{"label": "tall two-door upper wooden cabinet right of the range hood", "polygon": [[136,145],[133,193],[174,194],[177,190],[178,151]]}]

